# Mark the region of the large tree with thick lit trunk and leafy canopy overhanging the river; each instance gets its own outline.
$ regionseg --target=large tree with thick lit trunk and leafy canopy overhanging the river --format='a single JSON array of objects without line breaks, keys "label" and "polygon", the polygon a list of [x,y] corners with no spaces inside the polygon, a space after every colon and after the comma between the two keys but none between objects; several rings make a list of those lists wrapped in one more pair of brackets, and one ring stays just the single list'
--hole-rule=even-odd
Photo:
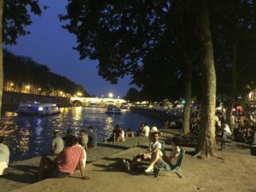
[{"label": "large tree with thick lit trunk and leafy canopy overhanging the river", "polygon": [[[205,91],[202,96],[201,138],[196,152],[204,152],[207,155],[215,156],[217,155],[217,148],[213,119],[216,77],[208,7],[207,1],[198,0],[195,3],[193,2],[182,1],[183,6],[186,6],[187,3],[193,5],[194,13],[189,16],[198,20],[200,30],[197,34],[201,38],[201,45],[197,49],[202,50],[202,85],[205,87]],[[162,62],[158,62],[160,61],[159,58],[155,61],[145,61],[150,60],[150,58],[153,59],[152,55],[163,55],[160,54],[161,49],[162,51],[169,51],[169,55],[172,57],[173,47],[170,46],[172,44],[175,44],[176,47],[177,44],[182,44],[180,49],[183,49],[186,44],[190,44],[188,35],[192,35],[190,32],[192,30],[189,29],[191,27],[189,25],[183,28],[184,32],[189,30],[188,34],[183,33],[188,39],[184,41],[178,39],[176,41],[175,38],[183,37],[183,34],[173,37],[172,27],[169,26],[177,27],[177,25],[172,25],[170,19],[172,17],[178,18],[177,13],[180,13],[180,11],[184,11],[184,15],[187,19],[189,18],[187,15],[189,8],[172,10],[174,5],[175,1],[172,1],[172,3],[171,1],[125,1],[124,3],[104,1],[99,3],[91,0],[69,0],[67,15],[61,15],[60,18],[61,20],[69,20],[64,28],[77,37],[78,45],[74,49],[79,51],[80,58],[97,59],[99,61],[99,74],[104,79],[116,83],[118,78],[122,78],[125,74],[131,74],[134,78],[137,73],[145,69],[150,71],[153,69],[152,67],[156,69],[154,70],[155,73],[165,71],[168,65],[173,64],[170,60],[165,61],[165,58],[168,57],[165,56]],[[197,9],[200,10],[200,13],[197,13]],[[195,26],[197,26],[196,23]],[[168,38],[170,39],[170,41],[167,41],[169,46],[162,46]],[[183,55],[189,55],[185,58],[189,61],[189,64],[186,64],[183,68],[189,69],[190,62],[193,61],[196,55],[196,51],[191,50],[193,49],[183,51]],[[151,64],[147,67],[148,63]],[[178,66],[181,68],[179,64]],[[177,70],[176,73],[179,73],[177,79],[183,76],[181,70]],[[191,74],[190,69],[187,74]],[[173,73],[171,73],[172,75]],[[148,77],[150,78],[150,76]],[[157,75],[154,77],[157,77]],[[154,77],[151,78],[151,82],[157,80]],[[191,81],[189,76],[186,79],[189,79],[188,82]],[[168,83],[172,82],[170,77],[164,80]],[[163,82],[163,84],[166,84],[166,82]],[[191,94],[189,93],[189,95]],[[190,100],[189,97],[188,100]]]}]

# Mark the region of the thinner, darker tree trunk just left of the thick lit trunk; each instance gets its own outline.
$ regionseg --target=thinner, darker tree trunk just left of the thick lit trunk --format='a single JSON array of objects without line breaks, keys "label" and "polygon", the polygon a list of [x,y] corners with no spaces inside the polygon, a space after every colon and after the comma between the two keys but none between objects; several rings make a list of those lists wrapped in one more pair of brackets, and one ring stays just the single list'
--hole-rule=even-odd
[{"label": "thinner, darker tree trunk just left of the thick lit trunk", "polygon": [[185,105],[183,113],[183,134],[188,134],[190,131],[189,119],[191,108],[191,81],[192,81],[192,61],[189,58],[186,59],[185,66]]}]

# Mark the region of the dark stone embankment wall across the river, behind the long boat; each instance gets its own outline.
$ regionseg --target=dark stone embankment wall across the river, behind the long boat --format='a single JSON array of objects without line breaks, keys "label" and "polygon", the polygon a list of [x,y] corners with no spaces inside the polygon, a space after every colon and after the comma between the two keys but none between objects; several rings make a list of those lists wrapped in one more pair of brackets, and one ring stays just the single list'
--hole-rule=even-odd
[{"label": "dark stone embankment wall across the river, behind the long boat", "polygon": [[60,108],[71,107],[69,97],[62,96],[40,96],[34,94],[3,91],[3,110],[15,110],[20,102],[48,102],[56,103]]}]

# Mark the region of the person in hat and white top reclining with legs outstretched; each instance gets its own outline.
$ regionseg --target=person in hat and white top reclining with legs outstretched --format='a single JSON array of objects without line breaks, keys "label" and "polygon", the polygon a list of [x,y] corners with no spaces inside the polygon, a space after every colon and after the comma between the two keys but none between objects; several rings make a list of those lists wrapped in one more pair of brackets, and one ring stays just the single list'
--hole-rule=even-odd
[{"label": "person in hat and white top reclining with legs outstretched", "polygon": [[150,160],[151,164],[145,170],[145,172],[152,172],[154,171],[154,163],[159,160],[159,158],[163,155],[161,152],[161,143],[159,142],[161,132],[154,131],[152,132],[152,142],[148,148],[148,151],[143,154],[138,154],[131,162],[124,160],[125,170],[130,172],[134,166],[137,166],[142,160]]}]

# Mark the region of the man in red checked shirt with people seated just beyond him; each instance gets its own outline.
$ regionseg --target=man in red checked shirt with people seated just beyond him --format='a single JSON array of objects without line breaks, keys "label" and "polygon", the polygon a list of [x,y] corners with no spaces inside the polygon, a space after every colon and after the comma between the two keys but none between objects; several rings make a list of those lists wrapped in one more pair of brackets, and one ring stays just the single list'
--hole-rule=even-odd
[{"label": "man in red checked shirt with people seated just beyond him", "polygon": [[83,179],[90,179],[84,174],[86,150],[88,147],[96,148],[97,134],[92,126],[88,130],[88,133],[80,130],[79,137],[76,137],[73,135],[72,130],[68,129],[67,135],[62,138],[60,133],[55,131],[49,155],[56,155],[56,157],[52,160],[47,154],[42,156],[38,171],[38,181],[44,178],[46,167],[49,170],[49,177],[67,177],[79,169]]}]

